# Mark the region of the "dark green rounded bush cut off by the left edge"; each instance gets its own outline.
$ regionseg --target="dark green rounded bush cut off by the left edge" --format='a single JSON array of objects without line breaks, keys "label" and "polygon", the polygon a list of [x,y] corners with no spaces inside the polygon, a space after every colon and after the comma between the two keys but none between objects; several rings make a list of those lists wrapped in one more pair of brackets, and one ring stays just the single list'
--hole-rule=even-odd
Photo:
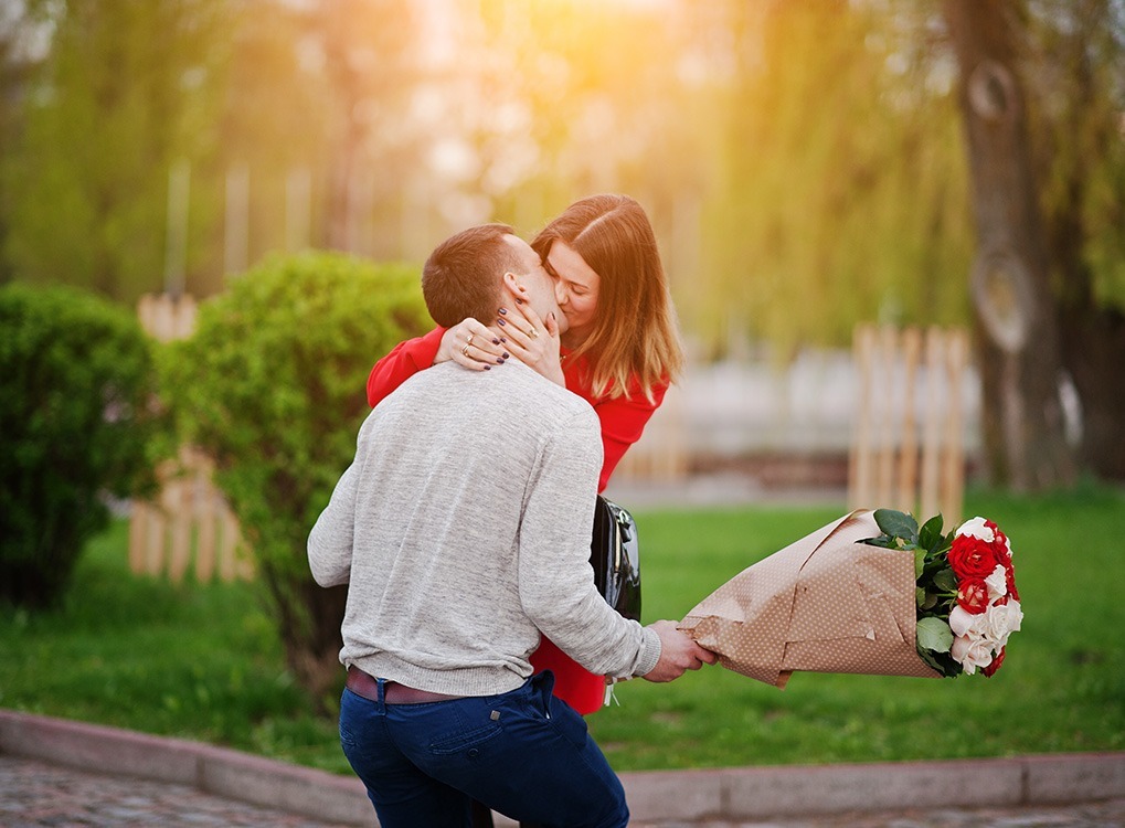
[{"label": "dark green rounded bush cut off by the left edge", "polygon": [[123,307],[71,288],[0,288],[0,597],[51,603],[105,494],[152,483],[155,370]]}]

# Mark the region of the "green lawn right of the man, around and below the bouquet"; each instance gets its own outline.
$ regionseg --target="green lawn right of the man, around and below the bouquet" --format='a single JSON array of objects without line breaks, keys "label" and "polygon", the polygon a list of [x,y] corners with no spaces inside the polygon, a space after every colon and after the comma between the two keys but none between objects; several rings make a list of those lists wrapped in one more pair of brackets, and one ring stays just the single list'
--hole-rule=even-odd
[{"label": "green lawn right of the man, around and below the bouquet", "polygon": [[[629,682],[591,718],[614,767],[659,768],[1125,749],[1125,497],[971,493],[1014,547],[1024,606],[1004,667],[947,680],[795,674],[784,691],[719,667]],[[681,618],[754,560],[838,516],[640,516],[646,616]]]}]

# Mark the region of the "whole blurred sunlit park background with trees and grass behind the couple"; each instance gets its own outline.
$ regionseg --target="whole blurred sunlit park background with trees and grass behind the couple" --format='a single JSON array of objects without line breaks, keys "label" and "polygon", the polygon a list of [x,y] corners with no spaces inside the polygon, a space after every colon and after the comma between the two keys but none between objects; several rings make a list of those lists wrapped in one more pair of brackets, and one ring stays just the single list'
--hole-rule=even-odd
[{"label": "whole blurred sunlit park background with trees and grass behind the couple", "polygon": [[346,773],[364,379],[441,240],[600,191],[690,357],[608,488],[646,613],[845,500],[1028,606],[955,693],[632,682],[614,766],[1122,749],[1125,0],[0,0],[0,704]]}]

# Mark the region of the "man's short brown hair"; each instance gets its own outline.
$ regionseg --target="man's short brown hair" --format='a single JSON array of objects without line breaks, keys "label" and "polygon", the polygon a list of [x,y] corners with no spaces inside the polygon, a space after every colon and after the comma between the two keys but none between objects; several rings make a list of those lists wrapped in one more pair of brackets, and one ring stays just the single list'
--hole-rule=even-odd
[{"label": "man's short brown hair", "polygon": [[471,316],[492,323],[504,272],[520,268],[515,251],[504,241],[514,233],[506,224],[482,224],[434,249],[422,268],[422,295],[434,322],[452,327]]}]

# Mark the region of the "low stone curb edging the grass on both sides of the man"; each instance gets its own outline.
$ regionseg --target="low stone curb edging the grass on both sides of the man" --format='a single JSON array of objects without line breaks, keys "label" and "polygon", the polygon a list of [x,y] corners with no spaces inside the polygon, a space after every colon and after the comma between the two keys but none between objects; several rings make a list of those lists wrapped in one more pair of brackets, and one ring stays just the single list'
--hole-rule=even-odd
[{"label": "low stone curb edging the grass on both sides of the man", "polygon": [[[375,820],[359,780],[183,739],[0,710],[0,754],[187,785],[328,822]],[[642,822],[1066,804],[1125,796],[1125,752],[646,771],[621,780]]]}]

